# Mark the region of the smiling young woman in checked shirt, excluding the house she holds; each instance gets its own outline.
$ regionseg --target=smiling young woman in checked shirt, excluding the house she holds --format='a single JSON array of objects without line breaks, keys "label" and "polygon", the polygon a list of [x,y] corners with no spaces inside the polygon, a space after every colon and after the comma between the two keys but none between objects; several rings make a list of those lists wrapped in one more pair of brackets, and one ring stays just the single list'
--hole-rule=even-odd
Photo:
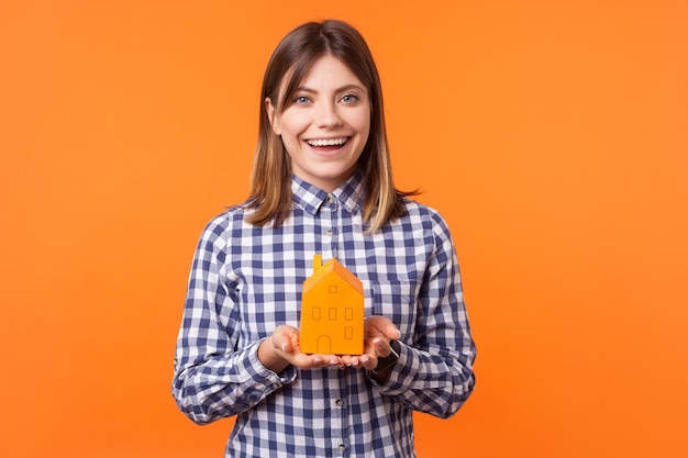
[{"label": "smiling young woman in checked shirt, excluding the house she holds", "polygon": [[[228,457],[414,457],[412,412],[463,405],[475,345],[445,222],[395,188],[364,38],[341,21],[295,29],[260,104],[251,194],[193,259],[177,404],[199,424],[236,415]],[[362,355],[300,351],[314,255],[363,282]]]}]

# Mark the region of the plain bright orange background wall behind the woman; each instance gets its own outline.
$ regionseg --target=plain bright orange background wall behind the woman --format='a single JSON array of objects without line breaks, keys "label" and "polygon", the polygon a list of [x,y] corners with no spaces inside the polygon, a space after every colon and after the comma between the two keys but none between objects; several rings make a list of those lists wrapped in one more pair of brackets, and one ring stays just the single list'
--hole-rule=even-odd
[{"label": "plain bright orange background wall behind the woman", "polygon": [[169,393],[191,255],[269,53],[329,16],[462,262],[477,389],[419,455],[687,456],[681,0],[1,0],[0,456],[222,456]]}]

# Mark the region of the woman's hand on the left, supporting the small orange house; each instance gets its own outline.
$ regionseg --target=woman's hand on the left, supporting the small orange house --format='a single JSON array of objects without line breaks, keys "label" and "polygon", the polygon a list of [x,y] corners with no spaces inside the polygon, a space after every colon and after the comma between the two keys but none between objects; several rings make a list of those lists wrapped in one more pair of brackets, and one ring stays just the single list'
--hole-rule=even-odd
[{"label": "woman's hand on the left, supporting the small orange house", "polygon": [[307,355],[299,349],[299,329],[289,325],[277,326],[273,336],[258,347],[258,359],[274,372],[281,372],[287,366],[300,369],[317,369],[324,366],[343,366],[336,355]]}]

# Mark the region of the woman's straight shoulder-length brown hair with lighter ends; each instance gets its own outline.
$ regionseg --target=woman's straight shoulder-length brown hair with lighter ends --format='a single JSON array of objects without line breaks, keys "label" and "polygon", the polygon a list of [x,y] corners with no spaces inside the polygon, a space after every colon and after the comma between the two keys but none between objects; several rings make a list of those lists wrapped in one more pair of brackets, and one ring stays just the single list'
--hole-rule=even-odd
[{"label": "woman's straight shoulder-length brown hair with lighter ends", "polygon": [[[370,133],[356,169],[363,176],[363,217],[375,232],[403,212],[402,198],[417,191],[395,188],[382,88],[370,49],[363,36],[349,24],[328,20],[308,22],[288,33],[275,48],[263,78],[260,120],[247,208],[255,210],[247,221],[255,225],[279,226],[291,210],[291,164],[281,138],[273,132],[265,100],[269,98],[276,113],[282,113],[299,83],[313,63],[323,55],[342,60],[366,86],[370,100]],[[284,96],[280,88],[284,80]]]}]

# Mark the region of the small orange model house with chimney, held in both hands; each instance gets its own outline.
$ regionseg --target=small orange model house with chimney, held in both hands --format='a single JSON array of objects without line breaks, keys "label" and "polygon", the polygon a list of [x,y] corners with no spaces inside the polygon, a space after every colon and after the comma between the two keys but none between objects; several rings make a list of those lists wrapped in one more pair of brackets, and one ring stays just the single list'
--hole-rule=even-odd
[{"label": "small orange model house with chimney, held in both hands", "polygon": [[303,282],[300,348],[306,354],[363,354],[363,283],[332,258],[313,256],[313,276]]}]

